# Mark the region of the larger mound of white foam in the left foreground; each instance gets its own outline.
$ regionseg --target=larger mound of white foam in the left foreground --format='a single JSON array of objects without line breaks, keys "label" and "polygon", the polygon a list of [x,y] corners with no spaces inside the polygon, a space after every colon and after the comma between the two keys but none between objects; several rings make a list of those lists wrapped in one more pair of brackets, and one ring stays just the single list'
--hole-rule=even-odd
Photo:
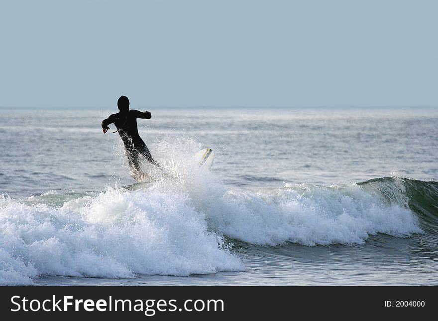
[{"label": "larger mound of white foam in the left foreground", "polygon": [[[108,189],[62,207],[14,200],[0,208],[2,284],[14,276],[132,278],[242,271],[222,237],[185,199],[160,192]],[[9,282],[14,283],[14,282]]]}]

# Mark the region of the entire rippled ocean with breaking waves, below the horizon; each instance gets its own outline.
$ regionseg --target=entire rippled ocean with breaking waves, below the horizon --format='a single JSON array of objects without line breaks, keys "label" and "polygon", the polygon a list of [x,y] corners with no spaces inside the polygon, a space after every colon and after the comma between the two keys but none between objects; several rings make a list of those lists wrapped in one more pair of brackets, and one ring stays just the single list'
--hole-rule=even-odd
[{"label": "entire rippled ocean with breaking waves, below the horizon", "polygon": [[0,108],[0,285],[438,285],[438,108],[148,110]]}]

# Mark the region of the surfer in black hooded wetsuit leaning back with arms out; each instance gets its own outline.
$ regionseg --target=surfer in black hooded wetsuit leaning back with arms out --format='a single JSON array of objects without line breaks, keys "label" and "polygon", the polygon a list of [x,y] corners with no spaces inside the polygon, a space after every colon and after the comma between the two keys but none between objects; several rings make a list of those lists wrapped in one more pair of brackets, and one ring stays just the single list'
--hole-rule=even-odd
[{"label": "surfer in black hooded wetsuit leaning back with arms out", "polygon": [[139,156],[142,155],[150,163],[157,167],[160,165],[152,158],[146,144],[144,144],[140,135],[138,135],[137,118],[151,119],[150,112],[140,112],[135,109],[129,110],[129,99],[126,96],[120,96],[117,100],[117,107],[119,112],[110,115],[102,122],[102,129],[104,134],[109,131],[109,124],[114,124],[120,135],[123,145],[125,146],[126,156],[128,157],[129,166],[136,173],[142,173],[140,169]]}]

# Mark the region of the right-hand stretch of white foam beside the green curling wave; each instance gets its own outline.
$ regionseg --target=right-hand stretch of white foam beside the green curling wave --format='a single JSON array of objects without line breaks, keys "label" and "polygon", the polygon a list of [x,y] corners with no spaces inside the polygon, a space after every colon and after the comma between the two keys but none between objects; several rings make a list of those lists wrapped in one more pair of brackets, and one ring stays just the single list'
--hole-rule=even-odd
[{"label": "right-hand stretch of white foam beside the green curling wave", "polygon": [[356,184],[286,185],[256,195],[227,192],[220,202],[210,213],[212,225],[252,244],[363,244],[376,233],[421,232],[410,209],[386,204]]}]

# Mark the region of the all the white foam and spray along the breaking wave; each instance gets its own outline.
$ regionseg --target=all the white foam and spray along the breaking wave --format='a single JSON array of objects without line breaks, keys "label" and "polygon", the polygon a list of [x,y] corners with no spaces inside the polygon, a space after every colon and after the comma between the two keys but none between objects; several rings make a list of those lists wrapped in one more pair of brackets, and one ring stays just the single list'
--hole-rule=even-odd
[{"label": "all the white foam and spray along the breaking wave", "polygon": [[255,194],[227,190],[217,174],[191,159],[200,146],[188,145],[184,150],[178,142],[153,146],[163,173],[154,173],[149,184],[108,187],[61,202],[53,201],[55,192],[21,201],[1,196],[0,284],[31,284],[40,275],[133,278],[244,271],[224,236],[265,246],[313,246],[363,244],[375,233],[421,232],[405,204],[353,183],[286,184]]}]

